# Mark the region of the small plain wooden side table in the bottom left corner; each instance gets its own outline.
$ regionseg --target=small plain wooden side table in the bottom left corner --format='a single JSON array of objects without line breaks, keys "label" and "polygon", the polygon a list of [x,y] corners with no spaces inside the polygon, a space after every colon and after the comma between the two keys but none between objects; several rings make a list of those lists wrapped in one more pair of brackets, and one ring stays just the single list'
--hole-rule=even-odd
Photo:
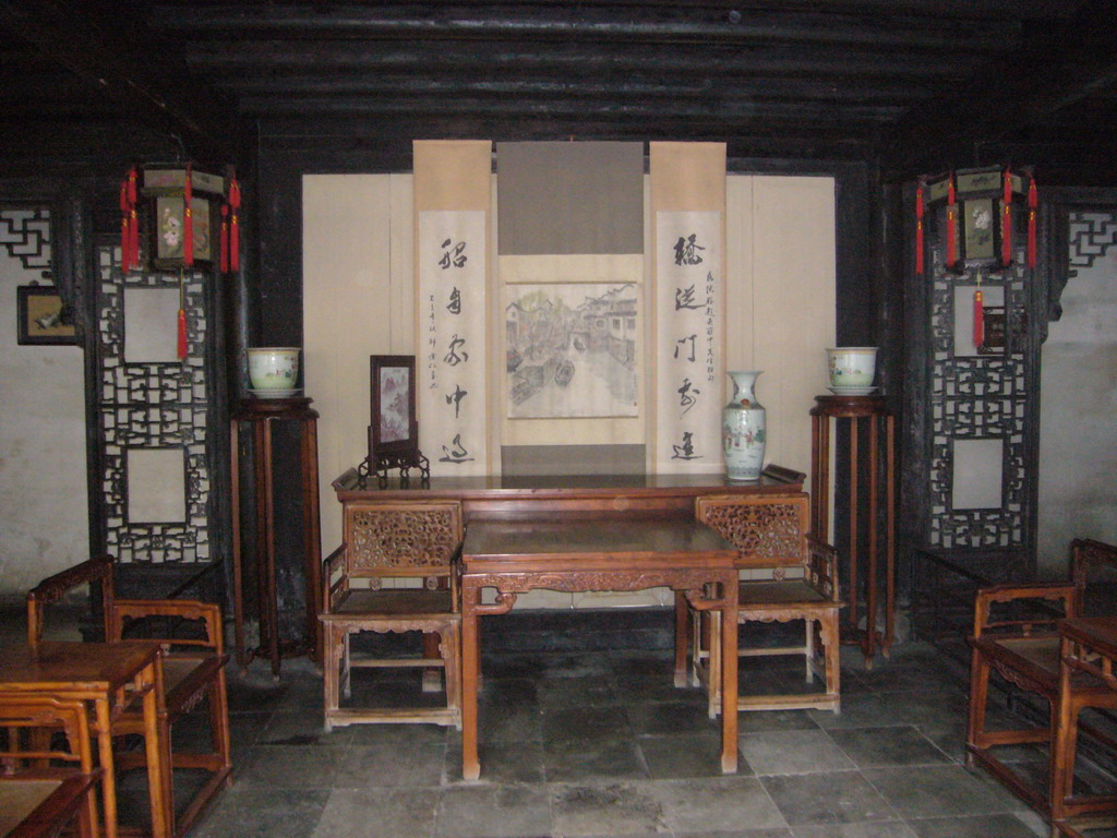
[{"label": "small plain wooden side table in the bottom left corner", "polygon": [[116,838],[116,777],[113,771],[112,722],[136,698],[143,702],[144,749],[151,799],[152,835],[169,838],[171,812],[170,743],[159,733],[156,688],[159,656],[155,640],[115,644],[44,641],[38,651],[29,646],[4,647],[0,655],[0,702],[6,696],[41,695],[88,702],[93,707],[93,732],[97,736],[105,808],[105,835]]}]

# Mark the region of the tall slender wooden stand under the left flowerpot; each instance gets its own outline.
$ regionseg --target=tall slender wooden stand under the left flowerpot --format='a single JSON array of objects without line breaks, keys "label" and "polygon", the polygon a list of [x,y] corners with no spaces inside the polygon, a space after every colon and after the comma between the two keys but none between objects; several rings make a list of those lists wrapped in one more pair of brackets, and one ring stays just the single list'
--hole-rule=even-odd
[{"label": "tall slender wooden stand under the left flowerpot", "polygon": [[[236,628],[237,663],[244,668],[254,657],[271,661],[271,674],[279,678],[279,661],[286,655],[306,654],[321,660],[322,626],[318,623],[318,604],[322,601],[319,564],[322,547],[318,518],[318,430],[313,399],[246,399],[233,411],[230,420],[230,450],[232,451],[232,585],[233,621]],[[306,640],[280,642],[278,601],[276,597],[275,508],[273,503],[271,423],[296,421],[299,423],[299,470],[303,491],[304,566],[306,572]],[[245,649],[245,602],[241,578],[240,532],[240,468],[238,432],[241,422],[252,427],[251,445],[255,456],[256,485],[256,588],[259,610],[259,646]]]}]

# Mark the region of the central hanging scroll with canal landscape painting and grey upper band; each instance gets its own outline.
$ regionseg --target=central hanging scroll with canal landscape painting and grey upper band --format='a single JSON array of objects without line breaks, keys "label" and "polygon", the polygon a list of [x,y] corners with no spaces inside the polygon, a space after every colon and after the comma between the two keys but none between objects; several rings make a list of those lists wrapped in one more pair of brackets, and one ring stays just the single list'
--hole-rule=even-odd
[{"label": "central hanging scroll with canal landscape painting and grey upper band", "polygon": [[496,147],[505,458],[642,468],[643,144]]}]

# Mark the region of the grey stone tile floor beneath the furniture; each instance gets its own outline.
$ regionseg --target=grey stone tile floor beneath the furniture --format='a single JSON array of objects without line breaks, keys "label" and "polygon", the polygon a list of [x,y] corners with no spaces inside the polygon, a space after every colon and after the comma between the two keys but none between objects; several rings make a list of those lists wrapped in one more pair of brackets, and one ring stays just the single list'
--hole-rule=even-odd
[{"label": "grey stone tile floor beneath the furniture", "polygon": [[[745,659],[742,689],[802,689],[800,660]],[[871,670],[851,647],[843,664],[840,715],[743,713],[741,770],[725,777],[717,768],[718,724],[707,718],[698,688],[671,686],[668,649],[486,654],[476,782],[461,779],[461,737],[452,729],[360,725],[326,733],[322,677],[308,661],[286,659],[279,683],[264,661],[247,672],[232,665],[235,782],[191,835],[1047,835],[1025,804],[963,766],[967,675],[954,658],[913,641]],[[383,672],[359,670],[356,697],[378,675],[378,694],[389,701],[419,695],[418,673]],[[184,723],[175,736],[203,730]]]}]

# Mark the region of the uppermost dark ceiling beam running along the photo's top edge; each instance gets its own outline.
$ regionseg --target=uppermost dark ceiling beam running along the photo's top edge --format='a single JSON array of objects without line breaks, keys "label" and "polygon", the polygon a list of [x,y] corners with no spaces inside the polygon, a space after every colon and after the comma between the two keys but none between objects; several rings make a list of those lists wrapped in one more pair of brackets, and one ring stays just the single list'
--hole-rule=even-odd
[{"label": "uppermost dark ceiling beam running along the photo's top edge", "polygon": [[841,45],[936,50],[968,44],[997,50],[1013,38],[1019,23],[992,30],[983,21],[942,15],[819,13],[808,10],[626,6],[605,8],[570,3],[516,6],[337,4],[331,13],[313,3],[284,6],[226,4],[153,8],[153,29],[182,38],[314,38],[340,40],[506,39],[621,44]]}]

